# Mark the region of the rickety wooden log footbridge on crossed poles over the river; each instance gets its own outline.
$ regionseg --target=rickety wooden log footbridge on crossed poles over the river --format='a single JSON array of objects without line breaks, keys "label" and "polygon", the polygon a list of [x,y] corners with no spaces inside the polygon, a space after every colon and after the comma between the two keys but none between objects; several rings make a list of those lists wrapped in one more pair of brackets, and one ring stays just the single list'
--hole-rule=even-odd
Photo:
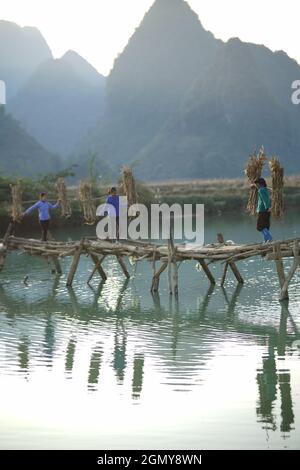
[{"label": "rickety wooden log footbridge on crossed poles over the river", "polygon": [[[178,268],[182,261],[196,261],[211,284],[216,280],[210,270],[212,263],[224,265],[221,285],[226,282],[228,269],[233,272],[237,282],[242,285],[242,278],[237,262],[253,257],[264,257],[265,260],[274,261],[278,273],[280,286],[280,300],[288,299],[288,288],[300,263],[299,253],[300,238],[278,241],[269,244],[236,244],[226,242],[222,234],[218,234],[217,242],[208,245],[196,245],[193,243],[174,245],[172,240],[167,244],[154,244],[150,242],[122,240],[118,242],[99,240],[97,238],[82,238],[76,241],[42,242],[35,239],[19,238],[10,235],[8,230],[5,237],[0,240],[0,269],[6,261],[6,255],[12,251],[18,251],[29,255],[41,256],[52,261],[54,272],[62,274],[59,260],[64,257],[72,257],[71,266],[67,276],[67,286],[71,286],[82,255],[90,257],[93,263],[93,271],[89,275],[88,283],[98,273],[101,280],[106,280],[107,275],[103,268],[103,261],[107,256],[115,256],[123,274],[130,277],[124,258],[130,258],[134,262],[149,261],[152,263],[151,292],[157,292],[161,274],[167,269],[170,294],[178,293]],[[284,258],[293,260],[289,271],[284,269]],[[7,262],[7,261],[6,261]],[[159,267],[156,263],[159,262]]]}]

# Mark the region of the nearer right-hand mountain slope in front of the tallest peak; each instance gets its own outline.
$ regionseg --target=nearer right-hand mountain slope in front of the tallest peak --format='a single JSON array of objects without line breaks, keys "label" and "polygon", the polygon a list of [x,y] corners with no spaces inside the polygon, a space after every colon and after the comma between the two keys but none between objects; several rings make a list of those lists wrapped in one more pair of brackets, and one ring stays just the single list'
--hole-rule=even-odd
[{"label": "nearer right-hand mountain slope in front of the tallest peak", "polygon": [[295,73],[300,76],[300,67],[285,54],[230,40],[138,154],[138,175],[241,176],[247,154],[262,144],[287,172],[299,171],[300,107],[292,105],[290,91]]}]

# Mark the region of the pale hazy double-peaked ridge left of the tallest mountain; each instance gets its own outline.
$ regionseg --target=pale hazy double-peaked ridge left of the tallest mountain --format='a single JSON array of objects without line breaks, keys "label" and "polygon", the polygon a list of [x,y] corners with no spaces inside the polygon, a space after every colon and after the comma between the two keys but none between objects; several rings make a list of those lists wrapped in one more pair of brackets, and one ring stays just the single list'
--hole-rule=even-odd
[{"label": "pale hazy double-peaked ridge left of the tallest mountain", "polygon": [[7,110],[50,153],[67,157],[101,118],[105,77],[75,51],[54,59],[36,28],[0,21]]}]

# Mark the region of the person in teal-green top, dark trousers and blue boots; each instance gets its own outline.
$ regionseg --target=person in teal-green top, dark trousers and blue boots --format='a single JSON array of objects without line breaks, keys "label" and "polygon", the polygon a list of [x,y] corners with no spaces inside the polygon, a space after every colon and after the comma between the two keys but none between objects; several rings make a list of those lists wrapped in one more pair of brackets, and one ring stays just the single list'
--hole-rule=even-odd
[{"label": "person in teal-green top, dark trousers and blue boots", "polygon": [[255,181],[258,188],[258,201],[257,201],[257,230],[262,232],[264,242],[269,243],[273,240],[270,233],[271,225],[271,197],[270,191],[267,188],[267,183],[264,178],[259,178]]}]

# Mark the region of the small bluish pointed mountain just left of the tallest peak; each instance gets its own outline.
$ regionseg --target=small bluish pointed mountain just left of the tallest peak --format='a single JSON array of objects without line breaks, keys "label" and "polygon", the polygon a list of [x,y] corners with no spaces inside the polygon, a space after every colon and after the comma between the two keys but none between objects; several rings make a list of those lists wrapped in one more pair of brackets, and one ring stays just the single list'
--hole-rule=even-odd
[{"label": "small bluish pointed mountain just left of the tallest peak", "polygon": [[8,103],[27,132],[62,156],[100,119],[104,77],[75,53],[43,62]]}]

